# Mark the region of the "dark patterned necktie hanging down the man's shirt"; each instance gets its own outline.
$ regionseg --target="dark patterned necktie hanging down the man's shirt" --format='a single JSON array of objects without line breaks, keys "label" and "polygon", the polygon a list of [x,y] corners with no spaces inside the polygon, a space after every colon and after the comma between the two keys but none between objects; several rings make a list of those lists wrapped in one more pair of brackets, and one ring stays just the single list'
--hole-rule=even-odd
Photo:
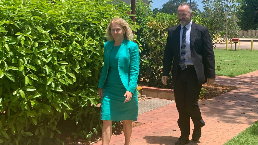
[{"label": "dark patterned necktie hanging down the man's shirt", "polygon": [[180,54],[180,68],[184,70],[186,68],[186,26],[183,27],[182,45]]}]

